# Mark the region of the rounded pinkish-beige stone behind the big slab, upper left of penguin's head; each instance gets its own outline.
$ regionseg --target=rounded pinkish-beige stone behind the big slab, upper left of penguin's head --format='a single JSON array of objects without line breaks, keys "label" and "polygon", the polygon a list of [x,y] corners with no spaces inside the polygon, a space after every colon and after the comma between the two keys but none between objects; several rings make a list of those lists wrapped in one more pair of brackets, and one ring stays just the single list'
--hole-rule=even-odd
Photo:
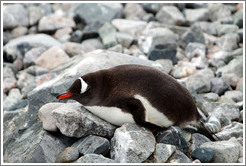
[{"label": "rounded pinkish-beige stone behind the big slab, upper left of penguin's head", "polygon": [[59,47],[54,46],[43,52],[35,61],[35,64],[48,70],[54,69],[64,62],[69,56]]}]

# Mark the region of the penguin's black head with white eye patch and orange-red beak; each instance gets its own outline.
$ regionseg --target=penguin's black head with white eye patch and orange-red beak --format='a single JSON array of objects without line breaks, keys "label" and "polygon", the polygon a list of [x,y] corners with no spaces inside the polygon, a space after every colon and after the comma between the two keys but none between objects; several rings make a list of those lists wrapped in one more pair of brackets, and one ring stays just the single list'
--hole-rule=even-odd
[{"label": "penguin's black head with white eye patch and orange-red beak", "polygon": [[81,102],[85,93],[90,89],[90,86],[83,80],[82,77],[79,77],[73,82],[70,88],[66,93],[57,96],[57,99],[73,99]]}]

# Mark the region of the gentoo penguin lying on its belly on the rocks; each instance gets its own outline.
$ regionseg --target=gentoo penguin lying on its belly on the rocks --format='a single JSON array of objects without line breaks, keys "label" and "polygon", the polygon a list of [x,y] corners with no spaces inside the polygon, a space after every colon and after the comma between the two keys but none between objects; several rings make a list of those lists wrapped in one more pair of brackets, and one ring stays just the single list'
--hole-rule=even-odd
[{"label": "gentoo penguin lying on its belly on the rocks", "polygon": [[100,118],[121,126],[183,127],[200,119],[189,91],[171,76],[142,65],[121,65],[86,74],[58,99],[73,99]]}]

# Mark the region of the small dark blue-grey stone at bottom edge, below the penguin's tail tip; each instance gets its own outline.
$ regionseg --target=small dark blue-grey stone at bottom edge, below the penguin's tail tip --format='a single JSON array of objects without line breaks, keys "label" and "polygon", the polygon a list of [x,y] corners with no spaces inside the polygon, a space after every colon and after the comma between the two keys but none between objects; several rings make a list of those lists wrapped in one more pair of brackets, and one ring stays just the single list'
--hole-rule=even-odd
[{"label": "small dark blue-grey stone at bottom edge, below the penguin's tail tip", "polygon": [[209,163],[214,157],[214,151],[206,148],[196,148],[191,157],[193,159],[199,159],[202,163]]}]

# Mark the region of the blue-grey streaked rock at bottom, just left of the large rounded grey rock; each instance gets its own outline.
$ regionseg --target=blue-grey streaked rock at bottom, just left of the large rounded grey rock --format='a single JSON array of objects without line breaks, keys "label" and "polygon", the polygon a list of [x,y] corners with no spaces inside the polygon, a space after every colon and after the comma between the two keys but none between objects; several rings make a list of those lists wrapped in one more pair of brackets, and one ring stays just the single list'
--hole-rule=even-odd
[{"label": "blue-grey streaked rock at bottom, just left of the large rounded grey rock", "polygon": [[106,138],[89,135],[75,142],[73,147],[79,150],[81,155],[101,154],[106,156],[109,153],[110,144]]}]

